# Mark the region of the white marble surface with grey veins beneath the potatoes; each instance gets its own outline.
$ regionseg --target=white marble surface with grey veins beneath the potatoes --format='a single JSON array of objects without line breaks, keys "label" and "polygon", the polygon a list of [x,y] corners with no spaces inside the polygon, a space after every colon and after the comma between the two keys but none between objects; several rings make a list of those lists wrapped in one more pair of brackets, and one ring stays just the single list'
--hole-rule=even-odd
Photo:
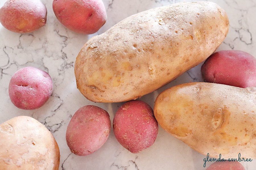
[{"label": "white marble surface with grey veins beneath the potatoes", "polygon": [[[0,7],[6,0],[0,0]],[[188,0],[189,1],[189,0]],[[256,56],[256,0],[212,0],[226,10],[230,19],[228,36],[218,50],[243,50]],[[84,105],[97,105],[113,116],[122,103],[94,103],[76,88],[74,63],[80,48],[92,36],[101,34],[122,19],[154,7],[180,0],[104,0],[108,19],[94,35],[82,35],[66,29],[55,17],[52,0],[42,0],[48,9],[47,23],[28,34],[13,33],[0,25],[0,123],[19,115],[32,116],[42,122],[54,135],[60,148],[62,170],[203,170],[204,155],[166,133],[159,127],[158,137],[150,148],[132,154],[115,139],[113,129],[107,142],[86,157],[71,154],[65,140],[66,128],[73,114]],[[201,65],[187,71],[170,84],[141,97],[154,106],[156,96],[176,84],[202,81]],[[45,70],[53,79],[53,93],[41,108],[20,110],[10,101],[8,85],[11,76],[26,66]],[[207,163],[207,167],[212,162]],[[242,163],[247,170],[256,167],[256,160]],[[1,169],[1,167],[0,167]]]}]

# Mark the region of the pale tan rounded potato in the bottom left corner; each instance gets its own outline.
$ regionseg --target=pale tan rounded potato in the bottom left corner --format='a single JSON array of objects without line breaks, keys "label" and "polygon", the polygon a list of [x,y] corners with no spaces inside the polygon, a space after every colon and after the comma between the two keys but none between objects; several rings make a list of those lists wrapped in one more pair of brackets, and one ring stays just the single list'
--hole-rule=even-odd
[{"label": "pale tan rounded potato in the bottom left corner", "polygon": [[1,170],[58,170],[59,146],[51,132],[29,116],[0,125]]}]

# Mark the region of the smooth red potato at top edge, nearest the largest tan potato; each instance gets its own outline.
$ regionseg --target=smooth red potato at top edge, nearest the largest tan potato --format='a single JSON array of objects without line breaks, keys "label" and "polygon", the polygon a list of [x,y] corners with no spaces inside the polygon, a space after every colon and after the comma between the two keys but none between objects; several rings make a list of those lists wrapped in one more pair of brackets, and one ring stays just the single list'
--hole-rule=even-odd
[{"label": "smooth red potato at top edge, nearest the largest tan potato", "polygon": [[96,33],[107,19],[102,0],[53,0],[57,19],[77,33]]}]

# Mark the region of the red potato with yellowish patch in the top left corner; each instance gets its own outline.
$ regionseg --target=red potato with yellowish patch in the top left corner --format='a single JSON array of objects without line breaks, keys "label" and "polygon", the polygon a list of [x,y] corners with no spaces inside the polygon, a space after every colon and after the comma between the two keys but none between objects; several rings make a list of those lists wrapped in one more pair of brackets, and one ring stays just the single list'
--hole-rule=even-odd
[{"label": "red potato with yellowish patch in the top left corner", "polygon": [[46,15],[40,0],[8,0],[0,9],[0,22],[10,31],[28,33],[44,26]]}]

